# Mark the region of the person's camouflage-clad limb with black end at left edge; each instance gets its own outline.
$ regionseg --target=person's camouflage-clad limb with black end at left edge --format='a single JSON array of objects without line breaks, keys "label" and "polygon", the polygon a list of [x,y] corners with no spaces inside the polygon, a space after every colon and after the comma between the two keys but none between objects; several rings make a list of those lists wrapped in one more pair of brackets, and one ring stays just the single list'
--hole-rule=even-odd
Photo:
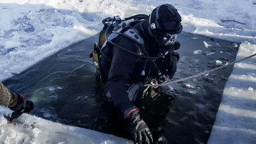
[{"label": "person's camouflage-clad limb with black end at left edge", "polygon": [[34,108],[31,100],[25,100],[19,93],[13,93],[0,82],[0,105],[10,108],[12,115],[4,116],[12,123],[14,118],[18,118],[22,113],[29,113]]}]

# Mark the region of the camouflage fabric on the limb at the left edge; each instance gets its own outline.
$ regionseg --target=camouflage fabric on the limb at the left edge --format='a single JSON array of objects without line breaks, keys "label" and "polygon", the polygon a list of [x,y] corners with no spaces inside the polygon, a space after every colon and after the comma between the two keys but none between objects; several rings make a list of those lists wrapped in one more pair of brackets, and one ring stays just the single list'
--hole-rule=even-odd
[{"label": "camouflage fabric on the limb at the left edge", "polygon": [[0,82],[0,105],[12,107],[17,104],[17,97]]}]

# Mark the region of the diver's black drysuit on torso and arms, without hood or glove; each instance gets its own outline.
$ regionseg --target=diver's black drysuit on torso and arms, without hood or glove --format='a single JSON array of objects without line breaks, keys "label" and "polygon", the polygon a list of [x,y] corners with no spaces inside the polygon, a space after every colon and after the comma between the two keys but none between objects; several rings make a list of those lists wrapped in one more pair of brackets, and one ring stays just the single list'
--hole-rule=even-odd
[{"label": "diver's black drysuit on torso and arms, without hood or glove", "polygon": [[[143,38],[145,48],[138,46],[138,44],[130,38],[119,35],[113,42],[136,54],[124,51],[109,42],[102,49],[102,54],[100,54],[102,82],[106,83],[107,95],[113,99],[115,106],[119,108],[122,113],[134,107],[127,93],[131,84],[145,84],[151,79],[158,79],[163,75],[173,77],[176,72],[177,59],[179,60],[179,53],[173,52],[172,50],[170,50],[164,58],[150,59],[138,56],[141,52],[143,56],[159,57],[161,47],[159,47],[154,40],[147,40],[145,38],[140,23],[136,24],[134,28]],[[143,49],[145,49],[145,51],[143,51]]]}]

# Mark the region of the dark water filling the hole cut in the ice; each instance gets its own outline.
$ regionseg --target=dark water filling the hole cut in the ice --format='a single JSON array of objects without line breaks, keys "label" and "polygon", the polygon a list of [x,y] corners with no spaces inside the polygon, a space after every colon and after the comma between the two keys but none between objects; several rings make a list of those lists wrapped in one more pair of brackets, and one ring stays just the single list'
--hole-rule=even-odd
[{"label": "dark water filling the hole cut in the ice", "polygon": [[[234,61],[239,47],[232,42],[189,33],[182,33],[179,41],[182,46],[174,79],[215,68],[216,60],[223,64]],[[203,41],[211,47],[205,48]],[[94,42],[97,36],[71,45],[4,84],[35,101],[33,115],[130,138],[127,123],[111,100],[104,97],[102,85],[95,78],[89,58]],[[155,141],[207,143],[230,72],[232,67],[165,86],[159,90],[156,100],[145,97],[140,105],[141,113]]]}]

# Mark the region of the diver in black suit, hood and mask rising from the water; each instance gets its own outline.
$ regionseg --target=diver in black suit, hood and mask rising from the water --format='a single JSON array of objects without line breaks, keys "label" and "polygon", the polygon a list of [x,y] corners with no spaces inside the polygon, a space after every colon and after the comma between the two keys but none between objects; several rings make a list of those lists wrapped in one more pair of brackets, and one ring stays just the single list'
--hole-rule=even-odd
[{"label": "diver in black suit, hood and mask rising from the water", "polygon": [[114,29],[100,48],[100,79],[107,97],[129,121],[134,143],[154,143],[137,104],[145,95],[156,99],[157,90],[144,84],[163,83],[174,76],[181,20],[174,6],[161,4],[145,19]]}]

